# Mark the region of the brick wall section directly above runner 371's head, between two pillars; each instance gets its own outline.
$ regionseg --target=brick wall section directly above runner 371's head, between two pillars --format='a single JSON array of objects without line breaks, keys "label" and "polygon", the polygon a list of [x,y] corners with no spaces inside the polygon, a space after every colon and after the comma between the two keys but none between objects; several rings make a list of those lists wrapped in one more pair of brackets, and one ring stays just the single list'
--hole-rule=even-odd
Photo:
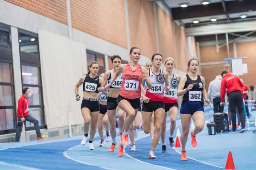
[{"label": "brick wall section directly above runner 371's head, between two pillars", "polygon": [[148,0],[128,0],[131,47],[137,46],[151,58],[157,52],[153,3]]}]

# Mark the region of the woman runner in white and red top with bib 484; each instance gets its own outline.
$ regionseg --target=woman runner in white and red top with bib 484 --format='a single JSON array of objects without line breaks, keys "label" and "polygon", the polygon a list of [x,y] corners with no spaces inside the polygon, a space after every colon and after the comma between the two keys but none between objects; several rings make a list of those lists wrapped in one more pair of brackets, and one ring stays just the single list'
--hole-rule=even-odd
[{"label": "woman runner in white and red top with bib 484", "polygon": [[169,91],[169,81],[168,74],[160,69],[160,66],[163,61],[163,57],[161,54],[154,54],[151,59],[153,63],[153,67],[148,70],[148,75],[150,82],[152,84],[152,88],[146,87],[146,94],[143,96],[143,105],[142,105],[142,116],[143,116],[143,130],[146,134],[150,132],[150,122],[151,117],[154,111],[154,120],[155,120],[155,131],[154,137],[151,144],[151,149],[149,152],[150,159],[156,159],[154,156],[154,150],[157,146],[157,142],[160,138],[161,126],[163,124],[164,117],[164,84],[166,85],[165,91]]}]

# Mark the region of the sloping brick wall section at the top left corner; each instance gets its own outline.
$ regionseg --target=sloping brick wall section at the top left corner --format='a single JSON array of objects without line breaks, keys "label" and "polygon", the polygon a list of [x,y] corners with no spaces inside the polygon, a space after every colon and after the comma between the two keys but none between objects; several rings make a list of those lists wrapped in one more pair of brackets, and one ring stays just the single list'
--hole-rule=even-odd
[{"label": "sloping brick wall section at the top left corner", "polygon": [[17,6],[67,24],[66,0],[6,0]]}]

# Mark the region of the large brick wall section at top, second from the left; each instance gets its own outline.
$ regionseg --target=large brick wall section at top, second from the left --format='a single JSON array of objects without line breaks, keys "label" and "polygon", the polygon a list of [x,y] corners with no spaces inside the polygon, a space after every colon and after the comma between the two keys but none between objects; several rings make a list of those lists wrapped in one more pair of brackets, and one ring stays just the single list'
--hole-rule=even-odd
[{"label": "large brick wall section at top, second from the left", "polygon": [[70,0],[70,2],[73,28],[127,48],[123,0]]}]

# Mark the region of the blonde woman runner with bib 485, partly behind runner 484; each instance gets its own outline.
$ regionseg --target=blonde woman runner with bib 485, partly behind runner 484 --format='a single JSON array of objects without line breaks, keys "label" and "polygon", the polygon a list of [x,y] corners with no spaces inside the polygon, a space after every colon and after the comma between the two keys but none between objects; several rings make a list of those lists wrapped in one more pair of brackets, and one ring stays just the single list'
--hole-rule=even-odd
[{"label": "blonde woman runner with bib 485, partly behind runner 484", "polygon": [[171,120],[169,141],[170,141],[170,146],[171,147],[174,146],[173,133],[176,127],[176,117],[179,109],[178,100],[177,100],[177,87],[178,87],[178,83],[180,82],[180,75],[174,74],[172,72],[174,65],[175,65],[175,61],[173,58],[168,57],[165,59],[164,66],[166,68],[166,72],[168,73],[170,91],[165,92],[164,94],[165,115],[163,118],[163,125],[161,130],[162,153],[167,153],[165,137],[166,137],[166,116],[168,111],[169,111],[169,116]]}]

